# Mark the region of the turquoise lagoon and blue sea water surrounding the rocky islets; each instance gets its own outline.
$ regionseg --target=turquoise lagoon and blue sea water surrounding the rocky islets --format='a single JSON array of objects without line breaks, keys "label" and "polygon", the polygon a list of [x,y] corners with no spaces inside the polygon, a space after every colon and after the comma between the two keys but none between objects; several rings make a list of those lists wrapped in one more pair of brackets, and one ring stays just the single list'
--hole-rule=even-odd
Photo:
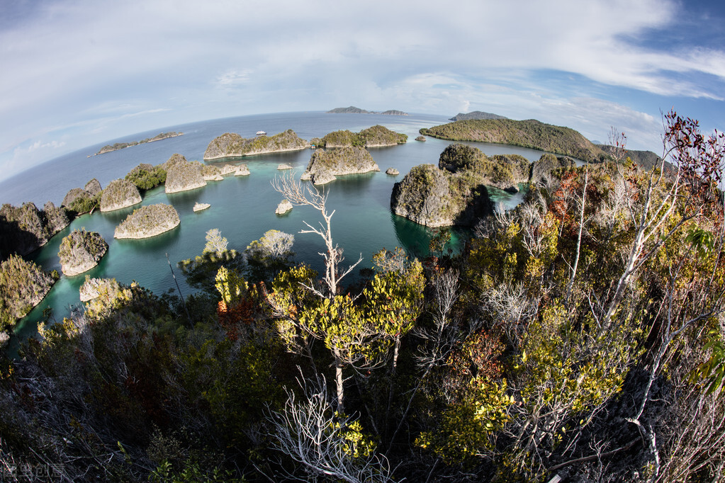
[{"label": "turquoise lagoon and blue sea water surrounding the rocky islets", "polygon": [[[0,203],[20,205],[33,201],[41,207],[46,201],[59,204],[71,188],[83,187],[96,177],[105,187],[109,181],[125,176],[139,163],[159,164],[172,154],[180,153],[186,159],[202,160],[210,141],[227,132],[239,133],[245,138],[254,136],[258,130],[270,135],[286,129],[294,130],[301,138],[309,140],[322,137],[334,130],[359,131],[380,124],[408,135],[408,142],[388,148],[371,148],[370,154],[376,160],[381,172],[365,175],[339,177],[324,188],[328,192],[328,208],[335,210],[332,218],[333,238],[342,248],[346,262],[354,263],[362,255],[360,267],[370,266],[373,253],[381,248],[400,246],[415,256],[425,256],[428,241],[433,230],[397,217],[390,211],[390,194],[393,185],[418,164],[437,164],[439,155],[450,141],[427,138],[426,142],[415,141],[421,127],[431,127],[447,122],[443,116],[410,115],[383,116],[378,114],[326,114],[323,112],[263,114],[228,119],[196,122],[187,125],[164,127],[159,130],[111,140],[96,146],[89,146],[58,159],[47,162],[0,183]],[[155,135],[159,132],[182,131],[177,138],[160,140],[130,148],[113,151],[100,156],[90,156],[101,146],[114,142],[128,142]],[[530,161],[539,159],[542,151],[486,143],[468,143],[477,146],[484,153],[521,154]],[[183,193],[166,194],[163,187],[154,188],[144,194],[141,204],[110,213],[96,212],[73,220],[69,227],[52,238],[49,243],[33,253],[30,258],[45,270],[56,269],[60,273],[57,256],[63,237],[81,227],[99,232],[109,243],[109,251],[101,263],[85,274],[75,277],[62,275],[46,298],[22,319],[16,327],[18,338],[36,333],[38,321],[43,320],[43,311],[50,308],[53,318],[62,320],[70,313],[72,306],[80,305],[78,288],[86,275],[91,277],[112,277],[128,284],[132,281],[154,291],[165,293],[175,290],[175,284],[167,263],[166,255],[173,264],[201,253],[207,230],[219,228],[228,239],[229,248],[243,251],[252,240],[257,240],[267,230],[281,230],[295,235],[294,251],[297,261],[305,261],[315,269],[322,268],[318,252],[323,251],[321,238],[314,234],[299,234],[303,222],[317,224],[321,221],[318,211],[302,206],[294,207],[283,216],[275,214],[277,204],[282,200],[270,181],[281,174],[277,166],[291,164],[297,177],[302,174],[311,149],[291,153],[248,156],[243,159],[226,159],[225,164],[246,163],[252,173],[247,177],[225,177],[223,181],[208,182],[204,188]],[[385,169],[395,167],[398,176],[385,174]],[[501,190],[492,190],[494,201],[511,207],[521,201],[521,193],[509,195]],[[210,209],[194,213],[194,203],[210,203]],[[175,207],[181,217],[181,224],[170,232],[146,240],[115,240],[113,232],[133,209],[141,205],[168,203]],[[454,233],[454,243],[457,234]],[[183,295],[193,293],[175,269]],[[17,341],[15,341],[17,344]]]}]

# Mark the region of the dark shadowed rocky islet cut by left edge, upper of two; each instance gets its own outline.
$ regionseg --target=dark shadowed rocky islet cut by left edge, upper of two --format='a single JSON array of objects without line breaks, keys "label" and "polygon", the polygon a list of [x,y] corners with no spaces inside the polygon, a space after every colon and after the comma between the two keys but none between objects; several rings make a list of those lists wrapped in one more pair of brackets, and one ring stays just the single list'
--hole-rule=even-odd
[{"label": "dark shadowed rocky islet cut by left edge, upper of two", "polygon": [[48,202],[43,210],[34,203],[0,208],[0,259],[10,253],[27,255],[45,245],[69,223],[65,209]]}]

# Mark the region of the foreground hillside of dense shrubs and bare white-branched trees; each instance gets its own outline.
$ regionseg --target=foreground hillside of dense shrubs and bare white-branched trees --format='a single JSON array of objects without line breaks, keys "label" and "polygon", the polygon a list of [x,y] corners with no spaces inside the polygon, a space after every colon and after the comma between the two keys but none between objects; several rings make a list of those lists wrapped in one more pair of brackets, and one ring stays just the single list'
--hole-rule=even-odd
[{"label": "foreground hillside of dense shrubs and bare white-branched trees", "polygon": [[[446,229],[422,259],[381,247],[354,284],[335,206],[286,171],[323,272],[291,234],[237,252],[211,229],[186,298],[88,278],[84,310],[0,358],[1,458],[74,482],[717,481],[725,135],[665,121],[650,169],[448,146],[408,176],[464,211],[487,183],[523,202],[473,213],[456,253]],[[18,272],[57,278],[10,256],[0,284]]]}]

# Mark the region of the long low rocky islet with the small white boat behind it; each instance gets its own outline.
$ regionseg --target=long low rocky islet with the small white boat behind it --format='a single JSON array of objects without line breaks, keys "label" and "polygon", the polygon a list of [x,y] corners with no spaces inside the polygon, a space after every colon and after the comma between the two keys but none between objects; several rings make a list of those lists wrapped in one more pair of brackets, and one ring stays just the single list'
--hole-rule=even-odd
[{"label": "long low rocky islet with the small white boat behind it", "polygon": [[207,151],[204,152],[204,161],[232,156],[299,151],[308,147],[310,143],[300,139],[291,129],[273,136],[259,135],[249,139],[242,138],[236,133],[224,133],[209,143]]}]

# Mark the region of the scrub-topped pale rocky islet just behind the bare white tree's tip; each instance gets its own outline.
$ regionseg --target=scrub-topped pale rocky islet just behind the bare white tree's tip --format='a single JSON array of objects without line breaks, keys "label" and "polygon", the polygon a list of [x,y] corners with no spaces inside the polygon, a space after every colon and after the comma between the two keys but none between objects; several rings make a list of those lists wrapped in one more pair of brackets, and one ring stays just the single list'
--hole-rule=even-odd
[{"label": "scrub-topped pale rocky islet just behind the bare white tree's tip", "polygon": [[360,146],[345,146],[315,151],[301,179],[312,180],[315,185],[324,185],[336,180],[336,176],[370,171],[380,171],[380,168],[368,150]]}]

